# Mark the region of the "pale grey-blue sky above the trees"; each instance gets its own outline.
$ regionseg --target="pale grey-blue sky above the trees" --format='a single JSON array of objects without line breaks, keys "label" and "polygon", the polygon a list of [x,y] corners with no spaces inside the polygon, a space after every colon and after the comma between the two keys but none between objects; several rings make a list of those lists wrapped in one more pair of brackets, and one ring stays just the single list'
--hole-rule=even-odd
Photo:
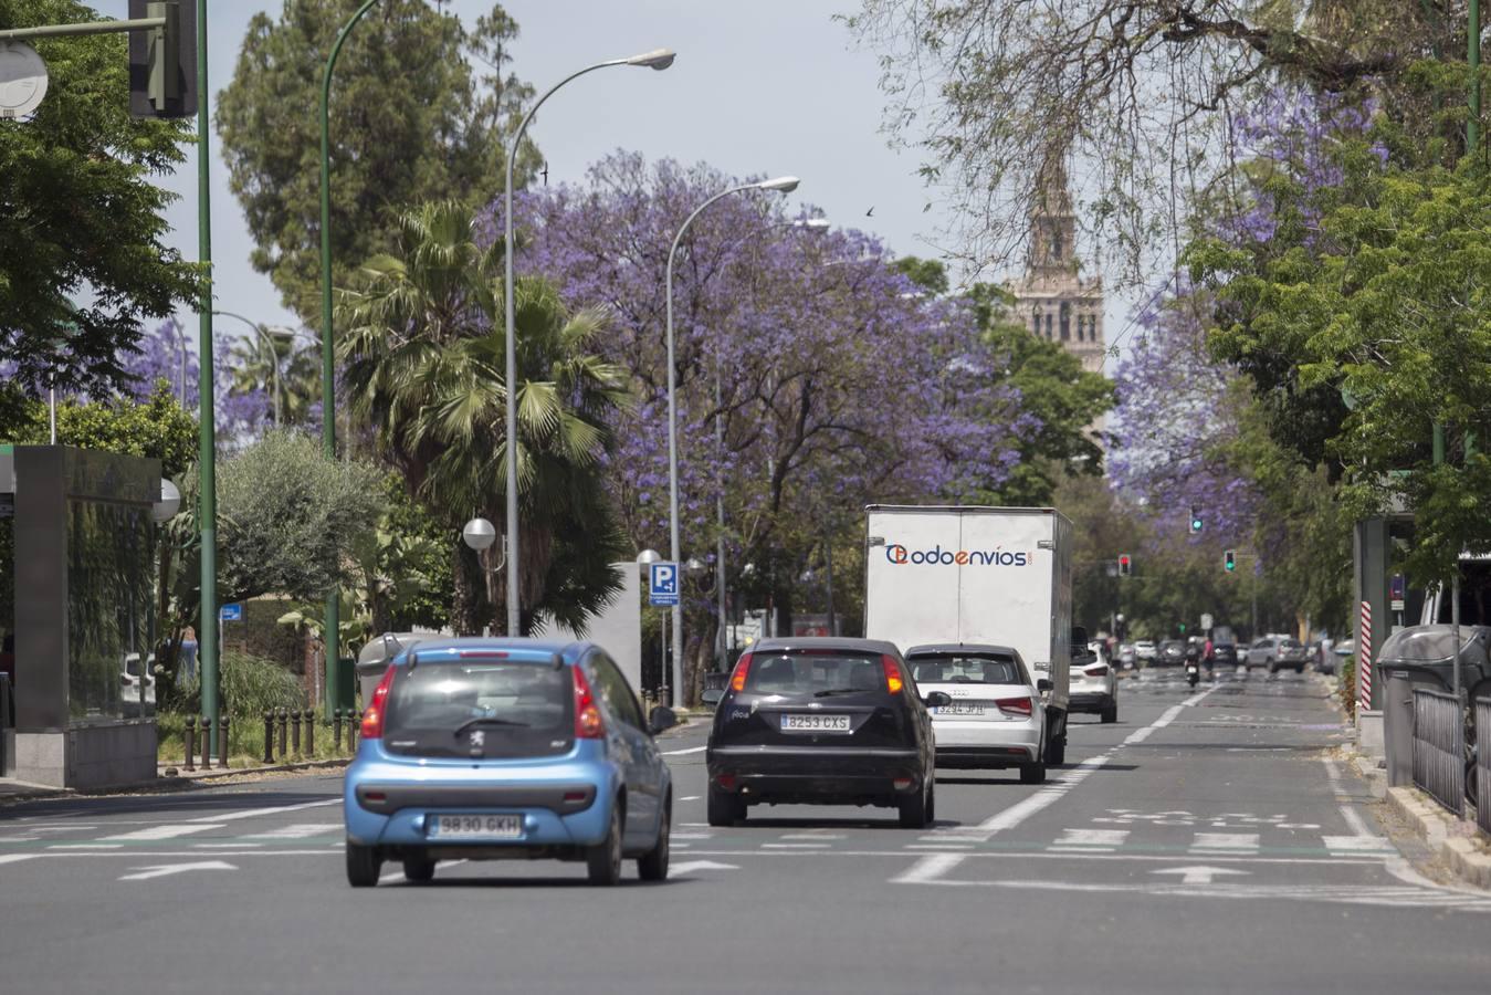
[{"label": "pale grey-blue sky above the trees", "polygon": [[[92,3],[103,16],[127,16],[127,0]],[[443,6],[473,24],[491,0]],[[513,70],[538,92],[595,61],[655,48],[678,52],[666,72],[607,69],[544,104],[529,133],[549,161],[550,182],[581,182],[590,163],[616,149],[705,161],[740,176],[792,173],[802,178],[790,195],[793,207],[811,204],[836,225],[871,231],[896,255],[939,255],[935,246],[950,227],[948,215],[917,175],[917,151],[893,149],[881,131],[877,54],[859,49],[832,19],[853,10],[851,0],[507,0],[504,7],[520,28]],[[279,0],[212,0],[213,101],[231,79],[249,19],[259,10],[277,16],[280,9]],[[355,45],[356,36],[347,43]],[[306,113],[316,113],[315,106]],[[216,306],[294,327],[298,322],[280,306],[268,276],[249,264],[253,243],[228,191],[216,134],[212,143]],[[195,260],[195,152],[163,183],[180,194],[167,216],[171,245]],[[1112,340],[1126,309],[1109,301],[1108,312]],[[180,319],[195,328],[189,312]],[[219,319],[218,334],[248,331]]]}]

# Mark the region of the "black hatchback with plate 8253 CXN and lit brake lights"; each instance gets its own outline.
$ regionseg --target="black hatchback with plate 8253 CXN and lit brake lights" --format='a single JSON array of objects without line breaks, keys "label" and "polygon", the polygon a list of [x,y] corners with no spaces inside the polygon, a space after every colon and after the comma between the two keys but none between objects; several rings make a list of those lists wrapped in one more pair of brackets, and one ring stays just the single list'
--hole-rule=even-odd
[{"label": "black hatchback with plate 8253 CXN and lit brake lights", "polygon": [[708,819],[734,825],[748,806],[847,804],[932,822],[933,740],[927,706],[890,643],[765,638],[735,664],[705,753]]}]

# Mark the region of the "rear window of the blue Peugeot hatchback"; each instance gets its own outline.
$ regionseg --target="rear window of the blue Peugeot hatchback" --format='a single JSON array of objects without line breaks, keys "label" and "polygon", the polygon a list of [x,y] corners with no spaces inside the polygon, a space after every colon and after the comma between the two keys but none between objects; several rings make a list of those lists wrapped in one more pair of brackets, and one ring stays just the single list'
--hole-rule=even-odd
[{"label": "rear window of the blue Peugeot hatchback", "polygon": [[513,661],[426,662],[401,668],[383,740],[419,756],[534,756],[568,752],[574,686],[568,668]]}]

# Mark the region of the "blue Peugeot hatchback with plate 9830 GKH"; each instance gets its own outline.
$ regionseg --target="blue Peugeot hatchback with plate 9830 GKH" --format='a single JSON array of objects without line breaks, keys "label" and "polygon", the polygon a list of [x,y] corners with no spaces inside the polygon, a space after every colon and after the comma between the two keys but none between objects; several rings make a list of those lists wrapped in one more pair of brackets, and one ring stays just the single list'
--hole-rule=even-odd
[{"label": "blue Peugeot hatchback with plate 9830 GKH", "polygon": [[347,767],[347,882],[385,861],[428,882],[441,859],[584,861],[614,885],[635,858],[668,876],[672,780],[626,677],[593,643],[431,638],[367,703]]}]

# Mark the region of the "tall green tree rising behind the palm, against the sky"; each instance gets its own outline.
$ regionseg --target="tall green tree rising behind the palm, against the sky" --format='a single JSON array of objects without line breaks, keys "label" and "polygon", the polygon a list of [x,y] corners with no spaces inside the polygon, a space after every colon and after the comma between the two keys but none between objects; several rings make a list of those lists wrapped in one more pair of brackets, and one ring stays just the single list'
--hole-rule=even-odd
[{"label": "tall green tree rising behind the palm, against the sky", "polygon": [[[216,125],[234,195],[285,304],[319,316],[321,79],[358,0],[286,0],[279,19],[249,22]],[[508,72],[517,22],[494,4],[474,30],[423,0],[385,0],[358,24],[331,88],[331,224],[335,285],[394,248],[412,203],[488,203],[499,189],[507,136],[532,87]],[[485,67],[477,72],[476,66]],[[525,182],[538,167],[519,155]]]}]

